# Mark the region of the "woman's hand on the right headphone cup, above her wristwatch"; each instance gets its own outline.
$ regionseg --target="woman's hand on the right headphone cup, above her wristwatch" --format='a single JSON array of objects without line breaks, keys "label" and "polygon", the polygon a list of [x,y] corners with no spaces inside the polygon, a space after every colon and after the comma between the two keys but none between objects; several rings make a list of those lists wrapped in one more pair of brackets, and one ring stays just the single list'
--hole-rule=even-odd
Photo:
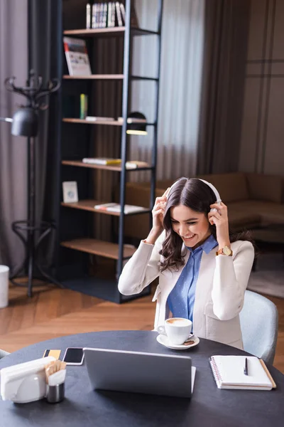
[{"label": "woman's hand on the right headphone cup, above her wristwatch", "polygon": [[211,225],[215,224],[216,226],[219,249],[224,248],[224,246],[230,247],[228,209],[226,205],[223,202],[221,204],[214,203],[210,205],[210,208],[217,209],[217,212],[209,212],[208,220]]}]

